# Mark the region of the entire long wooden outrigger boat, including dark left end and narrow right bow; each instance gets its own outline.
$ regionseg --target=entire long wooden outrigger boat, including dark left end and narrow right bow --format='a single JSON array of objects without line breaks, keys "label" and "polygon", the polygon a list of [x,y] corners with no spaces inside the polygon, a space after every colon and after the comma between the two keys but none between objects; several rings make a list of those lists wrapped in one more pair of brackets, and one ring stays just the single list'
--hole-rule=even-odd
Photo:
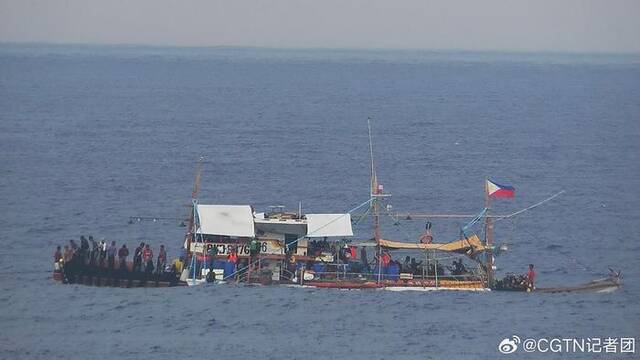
[{"label": "entire long wooden outrigger boat, including dark left end and narrow right bow", "polygon": [[[86,275],[72,274],[71,282],[97,286],[184,286],[207,283],[242,282],[247,284],[286,284],[334,289],[386,289],[393,291],[531,291],[522,279],[494,279],[495,221],[508,219],[540,206],[559,192],[537,204],[508,215],[493,215],[485,181],[485,206],[476,215],[393,214],[387,199],[391,196],[378,182],[369,123],[371,158],[370,197],[345,213],[303,214],[270,207],[256,212],[250,205],[208,205],[198,202],[202,172],[201,158],[192,191],[191,211],[184,237],[186,255],[180,259],[185,268],[158,275],[114,272],[104,269]],[[515,191],[511,188],[511,191]],[[364,211],[373,225],[373,238],[354,240],[352,215]],[[468,218],[458,239],[433,242],[431,223],[417,242],[403,242],[382,236],[381,215],[386,212],[394,222],[420,218]],[[482,226],[484,239],[474,232]],[[369,252],[367,252],[369,251]],[[369,256],[373,254],[370,260]],[[405,261],[394,261],[406,255]],[[396,255],[397,254],[397,255]],[[408,254],[411,254],[409,256]],[[414,257],[412,257],[414,256]],[[418,261],[415,261],[417,257]],[[409,260],[411,259],[411,260]],[[454,260],[452,267],[445,264]],[[464,259],[464,263],[463,263]],[[448,271],[445,270],[448,269]],[[54,279],[63,280],[54,273]],[[64,277],[68,281],[69,276]],[[616,281],[595,281],[572,288],[536,289],[538,292],[607,291],[617,288]]]}]

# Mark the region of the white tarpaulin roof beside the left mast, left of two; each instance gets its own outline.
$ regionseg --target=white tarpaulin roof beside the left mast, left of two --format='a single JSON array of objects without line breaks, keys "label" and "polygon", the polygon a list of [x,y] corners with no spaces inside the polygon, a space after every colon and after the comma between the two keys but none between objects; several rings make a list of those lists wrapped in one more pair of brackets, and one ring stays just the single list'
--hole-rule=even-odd
[{"label": "white tarpaulin roof beside the left mast, left of two", "polygon": [[198,205],[199,234],[254,237],[249,205]]}]

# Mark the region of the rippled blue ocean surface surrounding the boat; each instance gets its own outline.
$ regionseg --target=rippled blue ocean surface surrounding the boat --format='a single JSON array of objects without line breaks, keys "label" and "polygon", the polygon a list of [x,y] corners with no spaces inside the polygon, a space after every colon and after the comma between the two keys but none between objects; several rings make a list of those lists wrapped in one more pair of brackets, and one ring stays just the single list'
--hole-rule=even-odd
[{"label": "rippled blue ocean surface surrounding the boat", "polygon": [[[176,256],[201,155],[201,203],[348,211],[368,199],[368,117],[392,212],[478,213],[485,177],[517,189],[493,203],[496,214],[565,190],[496,224],[509,248],[498,274],[534,263],[538,286],[549,287],[612,267],[623,287],[396,293],[51,280],[55,246],[80,235],[164,244]],[[4,44],[0,358],[616,358],[502,355],[498,344],[640,336],[639,201],[637,55]],[[464,225],[432,221],[437,241]],[[383,234],[415,241],[423,227],[385,218]],[[357,238],[370,231],[363,223]]]}]

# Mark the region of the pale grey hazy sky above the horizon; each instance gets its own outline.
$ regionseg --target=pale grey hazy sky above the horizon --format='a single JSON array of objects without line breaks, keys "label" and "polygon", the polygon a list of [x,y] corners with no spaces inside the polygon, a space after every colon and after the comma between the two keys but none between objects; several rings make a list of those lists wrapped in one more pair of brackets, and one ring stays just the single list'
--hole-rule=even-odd
[{"label": "pale grey hazy sky above the horizon", "polygon": [[0,41],[640,52],[640,0],[0,0]]}]

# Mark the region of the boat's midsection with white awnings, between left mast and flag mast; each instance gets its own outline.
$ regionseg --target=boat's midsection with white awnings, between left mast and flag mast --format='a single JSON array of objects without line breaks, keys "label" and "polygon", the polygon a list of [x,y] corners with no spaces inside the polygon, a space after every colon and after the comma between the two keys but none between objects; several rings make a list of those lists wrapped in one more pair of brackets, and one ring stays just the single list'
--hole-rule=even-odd
[{"label": "boat's midsection with white awnings, between left mast and flag mast", "polygon": [[[477,235],[466,233],[461,239],[447,243],[406,243],[382,238],[382,201],[390,195],[377,181],[370,126],[369,135],[371,196],[343,214],[302,214],[300,209],[286,212],[282,207],[257,213],[249,205],[199,204],[199,165],[184,241],[189,266],[181,279],[189,284],[203,284],[209,278],[214,283],[297,284],[337,289],[488,290],[492,260],[485,263],[483,257],[491,252],[491,240],[483,242]],[[370,241],[352,239],[351,215],[358,210],[371,214],[374,237]],[[252,251],[255,243],[257,250]],[[366,250],[373,250],[373,261],[369,261]],[[416,266],[383,260],[385,254],[396,252],[413,252],[424,260]],[[447,259],[458,258],[460,264],[462,258],[467,258],[475,266],[468,269],[463,266],[464,271],[445,275],[438,254],[445,254]],[[233,262],[226,261],[232,257]]]}]

